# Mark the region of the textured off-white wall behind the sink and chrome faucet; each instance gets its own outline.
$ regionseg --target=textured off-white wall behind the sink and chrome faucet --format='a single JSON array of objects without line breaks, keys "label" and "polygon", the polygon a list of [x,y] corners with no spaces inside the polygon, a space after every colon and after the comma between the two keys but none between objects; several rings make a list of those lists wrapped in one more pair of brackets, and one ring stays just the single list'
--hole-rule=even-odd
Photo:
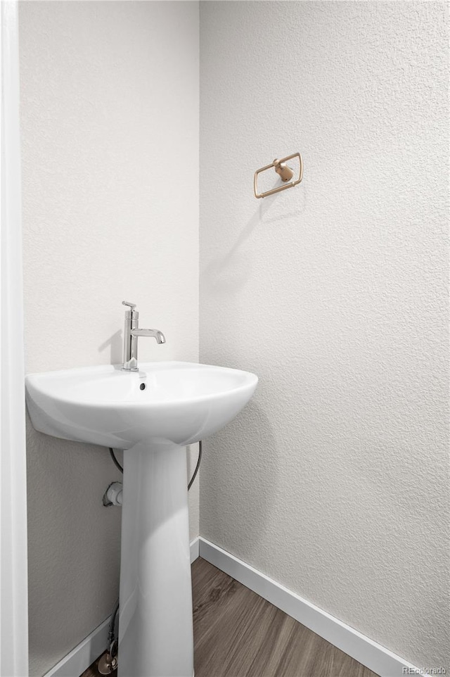
[{"label": "textured off-white wall behind the sink and chrome faucet", "polygon": [[[21,2],[20,57],[27,371],[120,362],[122,299],[167,338],[142,361],[197,361],[198,4]],[[120,475],[31,426],[28,462],[39,676],[112,611]]]}]

